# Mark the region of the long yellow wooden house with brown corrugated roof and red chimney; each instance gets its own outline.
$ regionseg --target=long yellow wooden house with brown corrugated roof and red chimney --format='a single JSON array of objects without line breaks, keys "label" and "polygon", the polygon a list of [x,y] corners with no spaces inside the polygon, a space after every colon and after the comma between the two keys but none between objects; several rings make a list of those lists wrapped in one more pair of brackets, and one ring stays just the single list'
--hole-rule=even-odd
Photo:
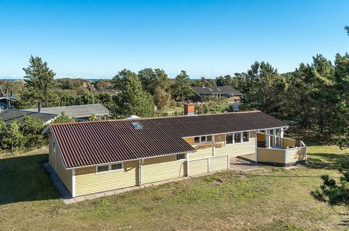
[{"label": "long yellow wooden house with brown corrugated roof and red chimney", "polygon": [[[281,164],[303,160],[296,149],[282,157],[258,151],[258,137],[272,137],[262,131],[283,134],[286,128],[249,111],[51,124],[43,133],[49,136],[50,166],[76,197],[229,169],[229,158],[238,156]],[[280,134],[268,143],[270,150],[283,142]]]}]

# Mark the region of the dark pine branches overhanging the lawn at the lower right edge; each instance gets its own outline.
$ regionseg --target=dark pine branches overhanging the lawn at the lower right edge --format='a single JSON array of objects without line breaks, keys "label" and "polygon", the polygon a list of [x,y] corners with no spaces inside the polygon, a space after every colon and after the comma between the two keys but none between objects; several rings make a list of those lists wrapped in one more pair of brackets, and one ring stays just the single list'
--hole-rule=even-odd
[{"label": "dark pine branches overhanging the lawn at the lower right edge", "polygon": [[336,181],[329,175],[322,175],[323,181],[320,189],[311,191],[311,195],[320,202],[325,202],[330,206],[344,205],[349,206],[349,156],[343,158],[339,168],[343,176]]}]

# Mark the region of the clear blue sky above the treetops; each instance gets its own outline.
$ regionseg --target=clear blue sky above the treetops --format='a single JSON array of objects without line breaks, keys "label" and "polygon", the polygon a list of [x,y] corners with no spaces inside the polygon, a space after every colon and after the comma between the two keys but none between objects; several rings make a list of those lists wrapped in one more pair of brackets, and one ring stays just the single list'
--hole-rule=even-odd
[{"label": "clear blue sky above the treetops", "polygon": [[161,68],[191,78],[280,73],[349,51],[349,1],[1,1],[0,78],[21,78],[30,55],[57,78],[112,78]]}]

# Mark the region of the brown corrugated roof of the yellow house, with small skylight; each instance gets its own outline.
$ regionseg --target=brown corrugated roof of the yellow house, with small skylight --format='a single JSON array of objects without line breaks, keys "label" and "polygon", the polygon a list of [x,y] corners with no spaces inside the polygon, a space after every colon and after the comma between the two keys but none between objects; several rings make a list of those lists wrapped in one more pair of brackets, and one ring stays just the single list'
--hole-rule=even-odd
[{"label": "brown corrugated roof of the yellow house, with small skylight", "polygon": [[191,152],[183,137],[272,127],[287,125],[260,111],[50,125],[67,168]]}]

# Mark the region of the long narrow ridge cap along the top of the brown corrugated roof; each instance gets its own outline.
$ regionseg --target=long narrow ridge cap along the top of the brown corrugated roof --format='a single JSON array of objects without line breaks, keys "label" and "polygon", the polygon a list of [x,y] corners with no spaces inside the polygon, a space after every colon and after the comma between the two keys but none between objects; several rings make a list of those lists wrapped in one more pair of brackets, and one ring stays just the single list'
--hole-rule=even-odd
[{"label": "long narrow ridge cap along the top of the brown corrugated roof", "polygon": [[134,119],[113,119],[113,120],[94,120],[94,121],[80,121],[80,122],[69,122],[69,123],[53,123],[50,126],[56,125],[69,125],[69,124],[83,124],[83,123],[106,123],[111,121],[136,121],[136,120],[150,120],[150,119],[164,119],[164,118],[183,118],[183,117],[195,117],[195,116],[219,116],[219,115],[227,115],[227,114],[241,114],[241,113],[257,113],[262,111],[236,111],[236,112],[222,112],[222,113],[207,113],[207,114],[199,114],[192,116],[159,116],[159,117],[147,117],[147,118],[134,118]]}]

